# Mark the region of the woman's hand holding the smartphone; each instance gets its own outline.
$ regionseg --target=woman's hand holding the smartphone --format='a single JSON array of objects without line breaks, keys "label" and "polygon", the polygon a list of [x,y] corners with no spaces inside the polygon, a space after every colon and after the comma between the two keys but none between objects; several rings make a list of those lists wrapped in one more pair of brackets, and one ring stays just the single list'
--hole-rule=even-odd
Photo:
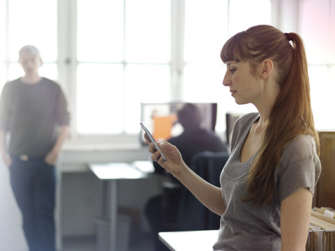
[{"label": "woman's hand holding the smartphone", "polygon": [[170,174],[178,178],[182,170],[186,167],[186,164],[181,157],[181,153],[176,146],[170,144],[169,142],[157,143],[161,151],[164,153],[166,161],[163,160],[161,152],[158,151],[154,143],[150,142],[147,134],[144,133],[144,139],[149,144],[148,151],[152,153],[151,160],[158,162],[161,167],[166,169]]}]

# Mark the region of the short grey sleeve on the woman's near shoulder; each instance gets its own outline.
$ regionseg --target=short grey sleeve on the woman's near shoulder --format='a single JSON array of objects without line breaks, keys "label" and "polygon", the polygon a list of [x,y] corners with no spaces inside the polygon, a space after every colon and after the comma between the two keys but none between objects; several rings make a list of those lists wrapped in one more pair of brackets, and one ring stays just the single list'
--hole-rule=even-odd
[{"label": "short grey sleeve on the woman's near shoulder", "polygon": [[312,195],[321,173],[321,164],[310,135],[300,135],[286,146],[276,169],[278,199],[283,201],[299,188],[308,188]]}]

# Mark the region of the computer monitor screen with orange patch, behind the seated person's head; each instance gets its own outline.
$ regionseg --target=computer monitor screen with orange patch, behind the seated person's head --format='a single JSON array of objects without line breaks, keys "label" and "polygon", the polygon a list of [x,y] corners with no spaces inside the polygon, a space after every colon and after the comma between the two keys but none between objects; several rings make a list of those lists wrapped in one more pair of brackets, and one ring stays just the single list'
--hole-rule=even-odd
[{"label": "computer monitor screen with orange patch, behind the seated person's head", "polygon": [[[182,126],[178,123],[177,112],[186,102],[142,103],[141,121],[149,129],[156,141],[163,142],[170,137],[180,135]],[[194,103],[202,116],[202,127],[215,130],[216,103]],[[140,133],[140,142],[145,144],[143,132]]]}]

